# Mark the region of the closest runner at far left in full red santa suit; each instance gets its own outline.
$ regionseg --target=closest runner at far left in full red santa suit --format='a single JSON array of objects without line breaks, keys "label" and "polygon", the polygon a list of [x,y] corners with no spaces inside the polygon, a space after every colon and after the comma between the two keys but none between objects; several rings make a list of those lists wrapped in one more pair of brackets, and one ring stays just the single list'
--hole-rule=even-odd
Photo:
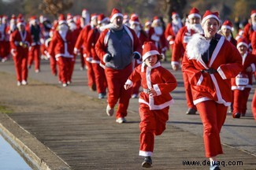
[{"label": "closest runner at far left in full red santa suit", "polygon": [[32,37],[25,30],[24,20],[17,20],[17,30],[10,36],[11,53],[17,74],[17,86],[28,83],[28,47]]}]

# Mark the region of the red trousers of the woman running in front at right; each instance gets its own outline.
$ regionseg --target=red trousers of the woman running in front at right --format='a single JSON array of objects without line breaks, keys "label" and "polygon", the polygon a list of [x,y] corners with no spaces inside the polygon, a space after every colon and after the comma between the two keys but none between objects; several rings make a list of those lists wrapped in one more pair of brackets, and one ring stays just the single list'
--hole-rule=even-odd
[{"label": "red trousers of the woman running in front at right", "polygon": [[227,116],[228,107],[212,100],[196,105],[203,124],[203,140],[206,157],[216,157],[223,153],[220,132]]}]

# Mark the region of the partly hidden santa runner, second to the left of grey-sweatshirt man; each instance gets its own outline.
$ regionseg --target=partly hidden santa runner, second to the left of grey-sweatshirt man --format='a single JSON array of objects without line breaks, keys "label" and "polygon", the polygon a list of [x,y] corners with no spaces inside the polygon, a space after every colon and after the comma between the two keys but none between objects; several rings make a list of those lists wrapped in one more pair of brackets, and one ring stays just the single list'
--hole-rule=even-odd
[{"label": "partly hidden santa runner, second to the left of grey-sweatshirt man", "polygon": [[[97,20],[97,15],[91,14],[91,23],[95,22]],[[78,36],[76,40],[76,45],[74,48],[74,53],[77,54],[81,47],[83,48],[83,60],[87,66],[87,79],[88,79],[88,87],[90,87],[91,91],[96,91],[96,83],[95,83],[95,72],[93,71],[92,65],[91,65],[91,56],[87,56],[87,37],[88,33],[91,29],[93,29],[95,26],[93,24],[86,25],[82,31],[80,31],[80,35]]]}]

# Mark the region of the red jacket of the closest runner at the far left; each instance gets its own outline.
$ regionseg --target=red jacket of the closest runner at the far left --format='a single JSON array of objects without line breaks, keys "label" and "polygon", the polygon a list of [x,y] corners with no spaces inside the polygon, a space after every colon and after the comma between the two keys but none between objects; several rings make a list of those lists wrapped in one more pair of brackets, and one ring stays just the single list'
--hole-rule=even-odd
[{"label": "red jacket of the closest runner at the far left", "polygon": [[24,31],[24,33],[16,30],[10,35],[9,38],[11,53],[16,54],[22,51],[28,51],[28,47],[32,42],[32,37],[28,31]]}]

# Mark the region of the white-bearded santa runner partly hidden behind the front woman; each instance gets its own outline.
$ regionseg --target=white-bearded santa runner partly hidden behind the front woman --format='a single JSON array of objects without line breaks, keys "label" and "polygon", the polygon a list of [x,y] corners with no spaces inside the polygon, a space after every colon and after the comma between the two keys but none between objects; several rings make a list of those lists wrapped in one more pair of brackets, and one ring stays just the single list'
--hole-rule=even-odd
[{"label": "white-bearded santa runner partly hidden behind the front woman", "polygon": [[[191,39],[191,36],[196,33],[202,33],[202,26],[199,24],[201,20],[201,15],[199,10],[196,8],[192,8],[188,19],[193,20],[194,18],[198,18],[198,23],[191,23],[183,28],[180,28],[176,35],[175,42],[173,44],[173,51],[172,51],[172,66],[180,65],[180,61],[183,61],[184,52],[187,46],[187,42]],[[194,22],[194,20],[193,20]],[[183,72],[183,79],[184,79],[184,87],[186,92],[186,99],[187,99],[187,114],[195,114],[196,107],[193,103],[193,98],[191,94],[191,85],[188,81],[187,73]]]}]

